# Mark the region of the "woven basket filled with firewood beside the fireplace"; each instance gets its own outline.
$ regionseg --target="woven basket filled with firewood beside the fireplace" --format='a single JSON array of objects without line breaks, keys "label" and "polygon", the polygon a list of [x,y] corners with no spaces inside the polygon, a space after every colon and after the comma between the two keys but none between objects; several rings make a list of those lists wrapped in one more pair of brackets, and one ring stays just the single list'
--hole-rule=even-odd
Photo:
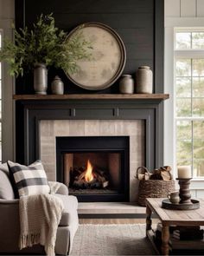
[{"label": "woven basket filled with firewood beside the fireplace", "polygon": [[146,198],[167,198],[175,191],[175,181],[170,173],[171,167],[164,166],[149,172],[147,167],[138,167],[136,178],[139,180],[138,204],[146,206]]}]

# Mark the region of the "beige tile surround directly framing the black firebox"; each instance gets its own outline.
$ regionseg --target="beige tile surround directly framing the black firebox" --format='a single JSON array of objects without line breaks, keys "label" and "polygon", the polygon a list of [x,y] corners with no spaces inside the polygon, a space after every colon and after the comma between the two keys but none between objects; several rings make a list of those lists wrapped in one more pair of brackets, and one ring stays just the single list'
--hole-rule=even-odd
[{"label": "beige tile surround directly framing the black firebox", "polygon": [[49,181],[56,180],[55,142],[56,137],[59,136],[130,136],[130,201],[137,200],[135,174],[137,167],[144,165],[144,121],[42,120],[40,122],[40,158]]}]

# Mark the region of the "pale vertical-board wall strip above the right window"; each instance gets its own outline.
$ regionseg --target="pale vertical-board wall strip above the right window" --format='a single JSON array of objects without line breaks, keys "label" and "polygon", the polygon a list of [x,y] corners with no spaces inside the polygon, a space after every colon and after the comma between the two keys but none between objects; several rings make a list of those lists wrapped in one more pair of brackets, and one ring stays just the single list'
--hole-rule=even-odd
[{"label": "pale vertical-board wall strip above the right window", "polygon": [[165,17],[204,17],[204,0],[165,0]]}]

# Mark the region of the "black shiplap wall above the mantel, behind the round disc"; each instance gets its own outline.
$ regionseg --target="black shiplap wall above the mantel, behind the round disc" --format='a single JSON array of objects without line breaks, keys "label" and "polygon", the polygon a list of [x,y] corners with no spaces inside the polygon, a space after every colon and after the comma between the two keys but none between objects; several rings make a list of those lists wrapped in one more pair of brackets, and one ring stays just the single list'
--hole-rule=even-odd
[{"label": "black shiplap wall above the mantel, behind the round disc", "polygon": [[[124,73],[135,76],[139,66],[149,65],[154,73],[155,91],[163,93],[163,0],[16,0],[16,27],[31,26],[36,16],[51,12],[56,25],[67,32],[86,22],[111,26],[124,41]],[[56,70],[50,69],[49,85],[54,75]],[[65,83],[66,93],[92,93],[75,86],[62,70],[58,75]],[[32,75],[18,79],[16,93],[33,93],[32,82]],[[118,93],[118,81],[109,89],[93,93]]]}]

